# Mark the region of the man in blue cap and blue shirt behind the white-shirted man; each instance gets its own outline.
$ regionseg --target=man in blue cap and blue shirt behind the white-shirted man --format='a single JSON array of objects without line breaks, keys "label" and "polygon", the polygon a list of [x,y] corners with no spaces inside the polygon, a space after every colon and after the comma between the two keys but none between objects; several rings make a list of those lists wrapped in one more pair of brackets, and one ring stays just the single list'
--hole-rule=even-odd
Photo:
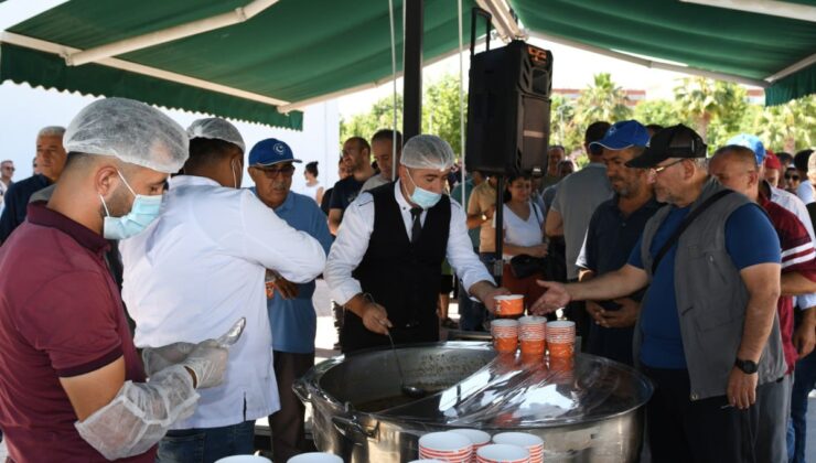
[{"label": "man in blue cap and blue shirt behind the white-shirted man", "polygon": [[[269,138],[259,141],[249,151],[249,176],[255,186],[249,189],[283,222],[296,230],[316,239],[325,254],[332,246],[325,214],[309,196],[294,193],[292,174],[294,159],[289,146]],[[269,417],[272,429],[275,461],[288,461],[305,449],[303,403],[294,396],[292,384],[314,366],[314,336],[318,316],[312,304],[314,280],[296,284],[275,274],[268,283],[267,311],[272,329],[272,359],[278,381],[280,410]]]}]

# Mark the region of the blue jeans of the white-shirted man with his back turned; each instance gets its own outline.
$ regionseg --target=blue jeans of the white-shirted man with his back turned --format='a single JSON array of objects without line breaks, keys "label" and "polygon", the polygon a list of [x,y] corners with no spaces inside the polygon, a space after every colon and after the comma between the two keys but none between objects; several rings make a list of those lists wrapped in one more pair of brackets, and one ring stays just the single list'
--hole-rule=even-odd
[{"label": "blue jeans of the white-shirted man with his back turned", "polygon": [[223,428],[168,431],[159,442],[158,463],[212,463],[255,453],[255,421]]}]

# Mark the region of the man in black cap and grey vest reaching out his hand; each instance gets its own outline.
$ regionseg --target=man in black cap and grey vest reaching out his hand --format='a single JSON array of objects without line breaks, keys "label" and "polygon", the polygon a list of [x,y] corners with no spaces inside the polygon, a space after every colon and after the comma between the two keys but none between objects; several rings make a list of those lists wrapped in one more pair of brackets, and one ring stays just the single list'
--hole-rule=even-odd
[{"label": "man in black cap and grey vest reaching out his hand", "polygon": [[540,282],[547,313],[571,300],[651,284],[634,360],[655,391],[646,413],[655,461],[754,461],[756,387],[785,373],[776,300],[780,241],[760,206],[708,176],[706,144],[683,125],[656,133],[627,166],[649,169],[657,201],[621,269],[588,282]]}]

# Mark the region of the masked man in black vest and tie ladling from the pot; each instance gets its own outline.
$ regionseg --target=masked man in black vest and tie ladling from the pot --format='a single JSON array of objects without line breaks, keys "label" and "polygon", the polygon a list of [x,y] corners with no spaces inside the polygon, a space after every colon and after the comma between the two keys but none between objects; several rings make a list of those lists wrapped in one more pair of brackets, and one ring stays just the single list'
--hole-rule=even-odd
[{"label": "masked man in black vest and tie ladling from the pot", "polygon": [[437,300],[444,258],[488,310],[496,288],[473,252],[465,213],[443,194],[453,150],[417,136],[400,159],[399,180],[362,193],[343,217],[323,273],[345,308],[343,352],[439,341]]}]

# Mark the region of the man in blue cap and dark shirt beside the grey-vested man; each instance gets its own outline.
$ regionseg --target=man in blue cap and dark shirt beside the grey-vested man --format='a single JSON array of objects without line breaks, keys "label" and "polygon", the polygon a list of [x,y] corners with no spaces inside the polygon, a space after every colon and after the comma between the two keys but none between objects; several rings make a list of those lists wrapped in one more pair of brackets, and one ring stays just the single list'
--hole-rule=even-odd
[{"label": "man in blue cap and dark shirt beside the grey-vested man", "polygon": [[[606,177],[615,194],[598,206],[589,222],[577,261],[580,281],[623,267],[646,222],[659,207],[647,171],[625,165],[643,153],[648,139],[641,122],[626,120],[610,127],[603,139],[592,143],[603,150]],[[632,334],[642,298],[643,290],[613,301],[587,301],[593,321],[587,345],[590,354],[632,365]]]}]

